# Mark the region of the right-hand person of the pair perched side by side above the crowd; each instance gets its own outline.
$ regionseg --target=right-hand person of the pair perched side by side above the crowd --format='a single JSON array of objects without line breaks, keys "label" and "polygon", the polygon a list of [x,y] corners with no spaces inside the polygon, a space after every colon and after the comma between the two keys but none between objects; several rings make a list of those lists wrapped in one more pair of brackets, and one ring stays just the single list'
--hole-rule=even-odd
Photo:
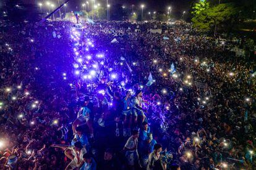
[{"label": "right-hand person of the pair perched side by side above the crowd", "polygon": [[[137,90],[132,99],[132,103],[133,103],[132,112],[134,115],[134,124],[137,124],[138,126],[140,126],[142,122],[145,120],[145,114],[142,108],[142,102],[143,102],[142,95],[143,95],[142,91]],[[138,121],[138,118],[139,118],[139,121]]]}]

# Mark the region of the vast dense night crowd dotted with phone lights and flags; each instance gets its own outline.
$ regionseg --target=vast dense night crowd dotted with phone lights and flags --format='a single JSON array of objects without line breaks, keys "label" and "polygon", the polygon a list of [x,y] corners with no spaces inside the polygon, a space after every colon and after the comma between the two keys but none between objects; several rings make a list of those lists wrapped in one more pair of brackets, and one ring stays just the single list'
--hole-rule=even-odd
[{"label": "vast dense night crowd dotted with phone lights and flags", "polygon": [[255,65],[227,48],[243,39],[1,25],[0,169],[254,169]]}]

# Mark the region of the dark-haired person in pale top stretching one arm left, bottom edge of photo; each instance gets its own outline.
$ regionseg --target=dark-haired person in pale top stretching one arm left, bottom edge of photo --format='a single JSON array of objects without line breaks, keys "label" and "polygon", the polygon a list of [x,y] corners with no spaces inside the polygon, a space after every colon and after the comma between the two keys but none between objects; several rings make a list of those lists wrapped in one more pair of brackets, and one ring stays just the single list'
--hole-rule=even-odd
[{"label": "dark-haired person in pale top stretching one arm left, bottom edge of photo", "polygon": [[65,168],[66,170],[81,167],[83,164],[83,155],[87,153],[86,148],[83,147],[83,145],[79,141],[75,142],[74,146],[53,144],[51,145],[51,147],[61,148],[62,150],[65,150],[65,155],[71,160]]}]

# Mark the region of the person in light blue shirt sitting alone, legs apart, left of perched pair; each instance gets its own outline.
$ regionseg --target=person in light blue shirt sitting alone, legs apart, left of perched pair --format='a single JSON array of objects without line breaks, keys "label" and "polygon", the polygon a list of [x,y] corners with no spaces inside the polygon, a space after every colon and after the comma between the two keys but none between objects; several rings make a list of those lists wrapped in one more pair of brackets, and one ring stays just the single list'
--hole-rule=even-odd
[{"label": "person in light blue shirt sitting alone, legs apart, left of perched pair", "polygon": [[90,137],[93,137],[93,103],[90,102],[90,98],[88,96],[85,97],[83,102],[83,107],[80,109],[77,114],[77,119],[75,119],[72,124],[73,133],[75,135],[75,127],[82,126],[83,124],[87,124],[88,129],[90,131]]}]

